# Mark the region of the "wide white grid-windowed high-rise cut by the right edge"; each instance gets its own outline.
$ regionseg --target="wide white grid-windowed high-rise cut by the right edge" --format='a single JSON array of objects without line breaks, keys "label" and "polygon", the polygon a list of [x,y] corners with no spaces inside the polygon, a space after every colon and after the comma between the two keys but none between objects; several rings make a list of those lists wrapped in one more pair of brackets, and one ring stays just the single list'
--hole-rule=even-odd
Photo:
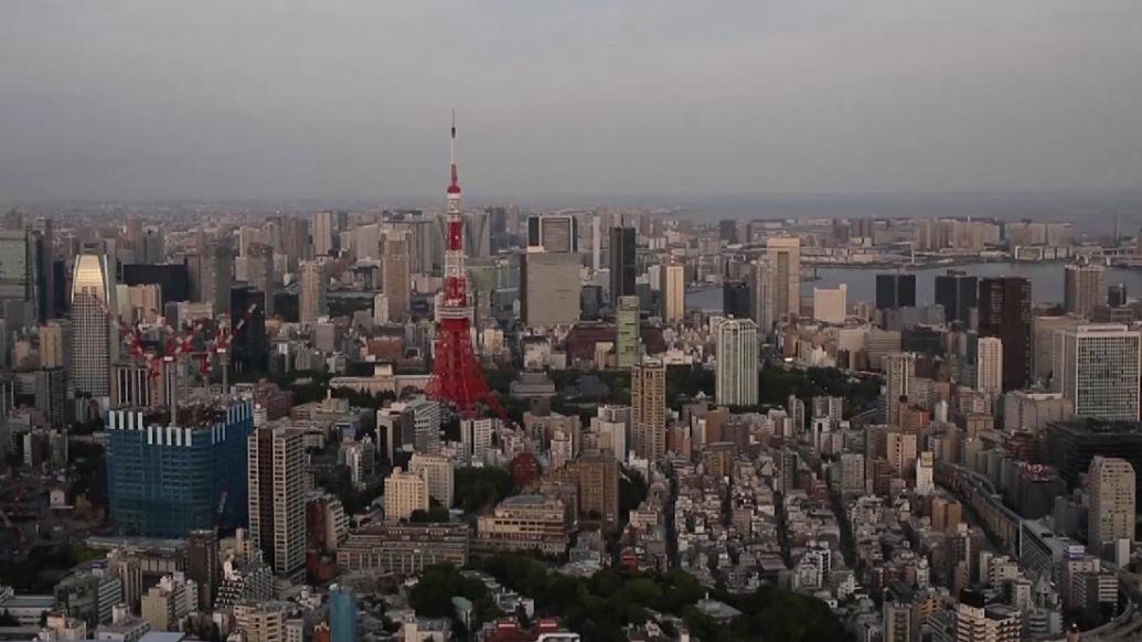
[{"label": "wide white grid-windowed high-rise cut by the right edge", "polygon": [[1075,415],[1139,419],[1142,332],[1113,323],[1078,326],[1055,335],[1055,390]]}]

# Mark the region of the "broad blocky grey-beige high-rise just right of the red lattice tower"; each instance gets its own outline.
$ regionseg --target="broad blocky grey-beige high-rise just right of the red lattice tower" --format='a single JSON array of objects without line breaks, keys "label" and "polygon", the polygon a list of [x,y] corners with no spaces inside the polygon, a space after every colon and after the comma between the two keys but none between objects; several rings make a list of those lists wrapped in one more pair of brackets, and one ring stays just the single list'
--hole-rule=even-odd
[{"label": "broad blocky grey-beige high-rise just right of the red lattice tower", "polygon": [[579,320],[582,286],[579,257],[568,252],[528,252],[520,275],[520,312],[536,327],[570,326]]}]

